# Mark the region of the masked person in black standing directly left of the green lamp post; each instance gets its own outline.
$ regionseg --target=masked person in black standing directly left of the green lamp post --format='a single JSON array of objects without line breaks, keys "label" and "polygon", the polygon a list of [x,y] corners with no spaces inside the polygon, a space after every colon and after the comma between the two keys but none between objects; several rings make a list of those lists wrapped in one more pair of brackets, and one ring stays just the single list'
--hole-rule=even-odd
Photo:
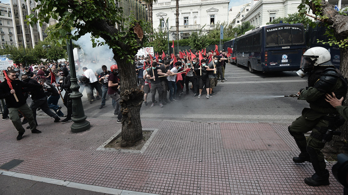
[{"label": "masked person in black standing directly left of the green lamp post", "polygon": [[65,122],[71,122],[72,117],[72,100],[70,99],[70,94],[72,90],[70,89],[71,81],[70,81],[70,73],[68,68],[65,66],[59,70],[59,74],[63,77],[62,83],[55,84],[56,87],[60,87],[60,90],[58,93],[61,93],[63,90],[65,91],[64,94],[64,105],[68,109],[68,114],[66,115],[66,118],[62,120],[62,123]]}]

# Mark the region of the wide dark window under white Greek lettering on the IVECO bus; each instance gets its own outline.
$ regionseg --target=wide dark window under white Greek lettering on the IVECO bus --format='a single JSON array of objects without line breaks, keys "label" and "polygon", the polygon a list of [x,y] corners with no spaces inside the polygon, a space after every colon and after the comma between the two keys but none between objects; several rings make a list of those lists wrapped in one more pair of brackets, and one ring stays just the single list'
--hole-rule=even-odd
[{"label": "wide dark window under white Greek lettering on the IVECO bus", "polygon": [[266,29],[266,46],[304,44],[303,28],[281,26]]}]

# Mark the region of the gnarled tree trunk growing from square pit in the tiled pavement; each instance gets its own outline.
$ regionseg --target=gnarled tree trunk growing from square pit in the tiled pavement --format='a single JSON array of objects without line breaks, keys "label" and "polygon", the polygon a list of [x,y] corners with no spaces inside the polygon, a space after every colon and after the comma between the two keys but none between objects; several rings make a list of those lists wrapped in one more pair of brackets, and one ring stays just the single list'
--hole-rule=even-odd
[{"label": "gnarled tree trunk growing from square pit in the tiled pavement", "polygon": [[[121,112],[122,112],[122,142],[121,146],[133,145],[143,138],[140,108],[144,91],[140,90],[136,82],[135,68],[126,59],[119,59],[119,53],[114,52],[121,79]],[[127,79],[122,79],[127,78]]]}]

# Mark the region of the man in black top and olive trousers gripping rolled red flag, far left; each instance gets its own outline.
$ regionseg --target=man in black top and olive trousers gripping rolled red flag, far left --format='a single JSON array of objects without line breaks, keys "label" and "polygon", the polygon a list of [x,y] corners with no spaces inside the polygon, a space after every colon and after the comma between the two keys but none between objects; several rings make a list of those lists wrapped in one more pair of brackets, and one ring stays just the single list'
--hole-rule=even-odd
[{"label": "man in black top and olive trousers gripping rolled red flag, far left", "polygon": [[[6,73],[4,73],[6,74]],[[8,75],[8,76],[7,76]],[[41,133],[41,131],[36,129],[36,123],[33,117],[33,112],[26,104],[26,98],[22,93],[23,87],[30,88],[42,88],[39,84],[29,84],[21,80],[16,80],[16,71],[7,71],[7,80],[9,82],[0,83],[0,99],[5,99],[9,110],[10,119],[18,131],[17,140],[22,139],[25,129],[22,126],[21,119],[18,116],[19,111],[24,115],[24,117],[29,121],[30,130],[32,133]],[[10,85],[11,86],[10,86]],[[12,88],[12,89],[11,89]],[[14,95],[16,94],[18,101],[15,100]]]}]

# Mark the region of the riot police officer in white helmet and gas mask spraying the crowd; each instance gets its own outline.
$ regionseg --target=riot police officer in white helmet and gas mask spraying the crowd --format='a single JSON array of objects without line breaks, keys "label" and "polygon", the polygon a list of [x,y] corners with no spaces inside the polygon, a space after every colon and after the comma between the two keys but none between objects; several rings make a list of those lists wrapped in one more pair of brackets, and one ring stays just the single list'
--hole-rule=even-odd
[{"label": "riot police officer in white helmet and gas mask spraying the crowd", "polygon": [[[311,162],[315,173],[305,178],[310,186],[329,185],[329,171],[326,169],[324,155],[321,150],[325,142],[323,138],[328,129],[339,126],[339,113],[325,101],[325,93],[334,92],[338,98],[347,93],[347,80],[336,69],[330,52],[322,47],[314,47],[304,52],[301,59],[300,77],[308,76],[308,87],[301,89],[299,100],[306,100],[310,108],[302,110],[302,116],[288,127],[301,153],[294,157],[295,163]],[[312,131],[308,140],[304,133]],[[327,140],[329,141],[329,140]]]}]

